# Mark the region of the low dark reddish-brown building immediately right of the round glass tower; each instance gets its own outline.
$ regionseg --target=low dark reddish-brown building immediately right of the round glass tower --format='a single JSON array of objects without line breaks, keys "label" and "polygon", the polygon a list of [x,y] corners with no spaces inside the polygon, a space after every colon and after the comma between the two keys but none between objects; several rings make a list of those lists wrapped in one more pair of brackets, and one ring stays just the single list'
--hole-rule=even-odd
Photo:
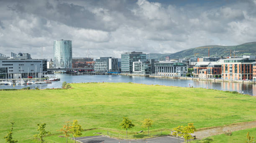
[{"label": "low dark reddish-brown building immediately right of the round glass tower", "polygon": [[93,62],[93,58],[72,58],[72,68],[91,67],[87,62]]}]

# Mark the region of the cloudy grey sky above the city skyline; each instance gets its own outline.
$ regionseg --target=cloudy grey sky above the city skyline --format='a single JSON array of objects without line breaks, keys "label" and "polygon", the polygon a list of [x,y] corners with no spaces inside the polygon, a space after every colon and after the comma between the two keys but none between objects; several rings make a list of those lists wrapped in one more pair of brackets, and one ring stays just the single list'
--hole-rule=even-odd
[{"label": "cloudy grey sky above the city skyline", "polygon": [[256,0],[0,0],[0,53],[53,58],[72,40],[73,57],[175,53],[256,41]]}]

